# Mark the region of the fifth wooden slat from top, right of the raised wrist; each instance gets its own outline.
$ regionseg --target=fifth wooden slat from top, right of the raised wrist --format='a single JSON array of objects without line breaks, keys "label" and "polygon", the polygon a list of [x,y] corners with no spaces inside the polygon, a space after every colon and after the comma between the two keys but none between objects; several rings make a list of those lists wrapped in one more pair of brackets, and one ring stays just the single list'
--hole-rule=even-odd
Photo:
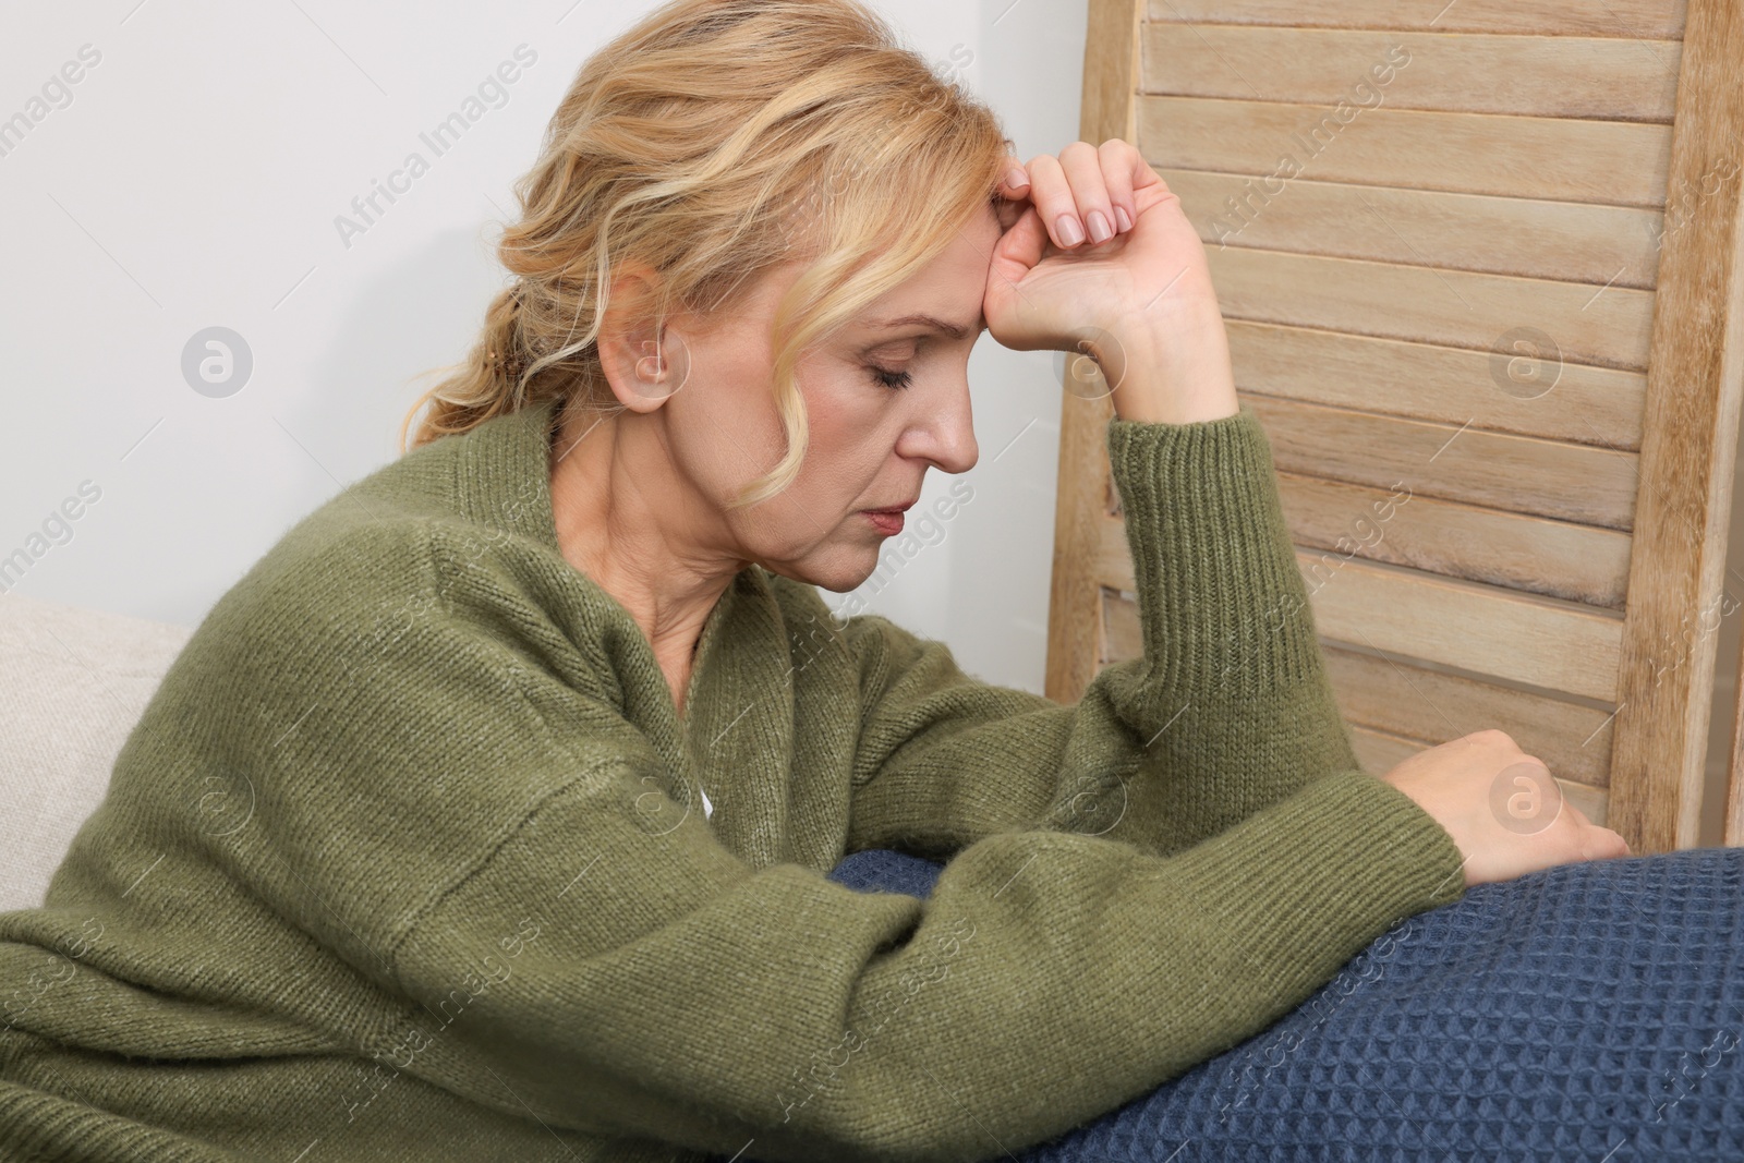
[{"label": "fifth wooden slat from top, right of the raised wrist", "polygon": [[1207,258],[1228,319],[1484,352],[1529,326],[1566,361],[1646,368],[1652,291],[1235,246]]}]

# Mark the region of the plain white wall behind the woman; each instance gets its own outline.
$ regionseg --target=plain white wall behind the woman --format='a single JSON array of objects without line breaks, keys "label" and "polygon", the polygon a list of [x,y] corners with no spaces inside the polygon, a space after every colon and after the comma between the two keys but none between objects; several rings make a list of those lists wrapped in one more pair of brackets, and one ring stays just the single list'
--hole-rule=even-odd
[{"label": "plain white wall behind the woman", "polygon": [[[33,124],[0,138],[0,558],[33,560],[0,589],[192,626],[291,523],[394,459],[419,375],[464,354],[499,286],[492,221],[551,110],[652,7],[9,10],[0,120]],[[1085,0],[875,7],[930,59],[968,61],[1025,160],[1078,136]],[[506,71],[506,99],[436,155],[419,134],[518,45],[535,59]],[[429,171],[342,237],[335,218],[413,150]],[[208,328],[253,364],[225,396],[183,370]],[[1060,389],[1048,356],[991,338],[970,375],[973,500],[856,596],[1039,690]],[[928,473],[926,504],[952,479]]]}]

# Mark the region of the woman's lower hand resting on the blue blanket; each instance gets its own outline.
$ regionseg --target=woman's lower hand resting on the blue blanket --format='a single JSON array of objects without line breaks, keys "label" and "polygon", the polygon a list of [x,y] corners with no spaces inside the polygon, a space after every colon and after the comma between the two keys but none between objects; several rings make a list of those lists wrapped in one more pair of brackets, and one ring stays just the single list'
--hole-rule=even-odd
[{"label": "woman's lower hand resting on the blue blanket", "polygon": [[1467,886],[1629,854],[1620,835],[1564,800],[1549,767],[1503,731],[1449,739],[1381,778],[1448,830],[1465,854]]}]

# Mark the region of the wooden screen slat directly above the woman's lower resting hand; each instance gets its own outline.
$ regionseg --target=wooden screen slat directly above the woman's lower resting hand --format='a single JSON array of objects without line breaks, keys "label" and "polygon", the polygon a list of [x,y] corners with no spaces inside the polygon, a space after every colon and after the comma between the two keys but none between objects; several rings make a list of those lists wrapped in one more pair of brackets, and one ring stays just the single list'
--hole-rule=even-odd
[{"label": "wooden screen slat directly above the woman's lower resting hand", "polygon": [[1430,745],[1505,731],[1552,774],[1610,786],[1611,711],[1322,643],[1339,713],[1352,725]]}]

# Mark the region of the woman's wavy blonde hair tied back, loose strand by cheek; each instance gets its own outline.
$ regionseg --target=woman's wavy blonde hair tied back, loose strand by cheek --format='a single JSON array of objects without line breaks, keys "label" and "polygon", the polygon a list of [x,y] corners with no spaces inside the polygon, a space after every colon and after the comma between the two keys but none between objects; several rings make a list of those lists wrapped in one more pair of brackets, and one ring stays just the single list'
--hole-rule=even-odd
[{"label": "woman's wavy blonde hair tied back, loose strand by cheek", "polygon": [[[673,0],[588,58],[497,244],[511,284],[427,391],[412,448],[560,399],[623,411],[595,342],[616,270],[659,275],[651,317],[731,305],[809,262],[773,319],[787,453],[734,506],[787,488],[806,455],[800,356],[944,251],[996,197],[998,117],[856,0]],[[703,389],[706,391],[706,387]]]}]

